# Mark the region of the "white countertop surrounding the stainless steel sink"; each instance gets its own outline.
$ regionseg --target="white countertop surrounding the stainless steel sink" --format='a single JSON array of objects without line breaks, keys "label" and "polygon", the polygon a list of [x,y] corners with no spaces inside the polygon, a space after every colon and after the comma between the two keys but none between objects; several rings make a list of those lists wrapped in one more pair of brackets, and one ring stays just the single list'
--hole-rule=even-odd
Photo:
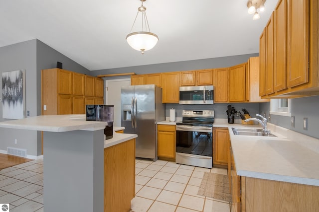
[{"label": "white countertop surrounding the stainless steel sink", "polygon": [[260,125],[216,125],[228,125],[238,175],[319,186],[318,139],[272,124],[277,137],[236,136],[231,129]]}]

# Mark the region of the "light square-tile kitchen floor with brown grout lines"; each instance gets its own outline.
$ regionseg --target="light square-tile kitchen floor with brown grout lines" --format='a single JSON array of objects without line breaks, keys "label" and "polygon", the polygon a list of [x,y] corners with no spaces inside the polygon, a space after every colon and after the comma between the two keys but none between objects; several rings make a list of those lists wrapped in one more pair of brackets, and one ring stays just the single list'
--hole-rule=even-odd
[{"label": "light square-tile kitchen floor with brown grout lines", "polygon": [[[230,204],[197,195],[204,172],[227,174],[157,160],[136,160],[132,212],[230,212]],[[43,212],[43,159],[0,170],[0,204],[10,212]]]}]

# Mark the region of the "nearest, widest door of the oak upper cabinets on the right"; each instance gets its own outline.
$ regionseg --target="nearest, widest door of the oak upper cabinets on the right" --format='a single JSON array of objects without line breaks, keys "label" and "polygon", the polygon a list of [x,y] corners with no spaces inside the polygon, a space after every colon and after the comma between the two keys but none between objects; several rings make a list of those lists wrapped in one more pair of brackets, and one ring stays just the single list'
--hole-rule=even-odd
[{"label": "nearest, widest door of the oak upper cabinets on the right", "polygon": [[288,87],[309,81],[309,0],[288,4]]}]

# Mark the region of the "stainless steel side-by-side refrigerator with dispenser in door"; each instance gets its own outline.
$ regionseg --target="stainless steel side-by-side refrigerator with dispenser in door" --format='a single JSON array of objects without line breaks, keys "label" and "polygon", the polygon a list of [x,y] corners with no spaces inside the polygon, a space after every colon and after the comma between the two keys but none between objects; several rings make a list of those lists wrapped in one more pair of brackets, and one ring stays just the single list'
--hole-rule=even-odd
[{"label": "stainless steel side-by-side refrigerator with dispenser in door", "polygon": [[136,157],[157,160],[157,122],[165,120],[161,88],[150,85],[121,87],[124,133],[137,134]]}]

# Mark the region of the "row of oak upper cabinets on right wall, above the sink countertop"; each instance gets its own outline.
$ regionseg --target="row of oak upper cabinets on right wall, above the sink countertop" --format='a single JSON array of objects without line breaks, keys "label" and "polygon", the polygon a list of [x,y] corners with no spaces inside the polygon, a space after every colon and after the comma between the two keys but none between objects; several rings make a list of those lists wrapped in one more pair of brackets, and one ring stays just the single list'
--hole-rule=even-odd
[{"label": "row of oak upper cabinets on right wall, above the sink countertop", "polygon": [[[319,95],[318,12],[318,0],[278,1],[266,26],[266,31],[271,28],[269,26],[274,27],[272,61],[267,59],[270,54],[267,53],[270,31],[266,33],[265,48],[260,45],[260,55],[266,52],[266,70],[260,77],[260,85],[263,80],[266,83],[266,92],[260,92],[263,98]],[[263,36],[260,43],[262,39]],[[269,62],[273,62],[273,72],[267,68]]]}]

